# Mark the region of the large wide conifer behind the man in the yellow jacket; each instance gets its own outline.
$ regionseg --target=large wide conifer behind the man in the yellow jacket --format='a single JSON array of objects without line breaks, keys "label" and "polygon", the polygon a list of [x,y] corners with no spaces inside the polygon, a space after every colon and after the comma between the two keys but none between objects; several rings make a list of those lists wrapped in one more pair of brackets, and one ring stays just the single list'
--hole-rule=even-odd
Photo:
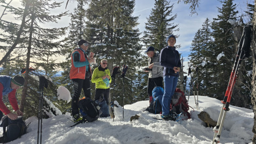
[{"label": "large wide conifer behind the man in the yellow jacket", "polygon": [[[99,66],[101,59],[108,60],[110,71],[114,66],[129,66],[125,78],[125,101],[133,102],[136,91],[133,83],[137,77],[138,64],[140,61],[138,17],[133,17],[134,1],[108,0],[91,1],[86,13],[86,40],[91,44],[91,51],[95,53]],[[122,101],[122,78],[116,78],[115,100]],[[116,96],[117,95],[117,96]],[[123,105],[123,103],[120,103]]]}]

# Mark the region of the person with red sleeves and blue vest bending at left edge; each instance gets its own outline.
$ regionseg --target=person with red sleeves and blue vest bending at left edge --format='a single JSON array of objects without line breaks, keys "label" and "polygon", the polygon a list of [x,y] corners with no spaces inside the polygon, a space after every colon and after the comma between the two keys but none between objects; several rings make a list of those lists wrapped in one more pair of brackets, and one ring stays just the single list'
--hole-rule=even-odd
[{"label": "person with red sleeves and blue vest bending at left edge", "polygon": [[[16,75],[14,77],[0,75],[0,119],[3,117],[3,113],[10,119],[17,119],[18,116],[22,116],[17,99],[15,98],[16,90],[23,86],[25,79],[23,76]],[[16,111],[16,114],[12,113],[3,102],[3,96],[8,95],[8,99],[12,108]]]}]

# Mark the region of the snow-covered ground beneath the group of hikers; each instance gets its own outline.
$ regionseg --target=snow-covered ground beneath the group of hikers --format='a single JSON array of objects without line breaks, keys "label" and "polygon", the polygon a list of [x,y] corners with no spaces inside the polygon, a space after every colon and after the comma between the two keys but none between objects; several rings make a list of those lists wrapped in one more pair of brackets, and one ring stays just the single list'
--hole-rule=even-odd
[{"label": "snow-covered ground beneath the group of hikers", "polygon": [[[116,118],[99,118],[91,123],[78,124],[69,120],[70,114],[43,119],[42,143],[211,143],[213,131],[205,127],[197,117],[206,111],[215,121],[218,120],[222,103],[213,98],[199,96],[199,110],[190,108],[191,119],[186,121],[161,121],[151,117],[154,114],[144,111],[148,101],[139,101],[132,105],[115,108]],[[194,96],[190,96],[189,105],[195,108]],[[130,122],[130,117],[139,115],[139,119]],[[26,120],[29,124],[27,134],[9,143],[37,143],[36,117]],[[252,143],[253,111],[230,106],[222,129],[221,143]]]}]

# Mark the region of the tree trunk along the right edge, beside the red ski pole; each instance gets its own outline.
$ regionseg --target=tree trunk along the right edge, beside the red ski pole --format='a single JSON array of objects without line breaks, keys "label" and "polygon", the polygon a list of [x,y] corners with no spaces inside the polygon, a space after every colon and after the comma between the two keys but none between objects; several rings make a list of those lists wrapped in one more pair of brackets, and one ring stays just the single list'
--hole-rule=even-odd
[{"label": "tree trunk along the right edge, beside the red ski pole", "polygon": [[252,142],[256,143],[256,0],[254,0],[254,13],[252,20],[252,59],[253,59],[253,73],[252,73],[252,105],[254,113],[254,125],[253,125],[253,139]]}]

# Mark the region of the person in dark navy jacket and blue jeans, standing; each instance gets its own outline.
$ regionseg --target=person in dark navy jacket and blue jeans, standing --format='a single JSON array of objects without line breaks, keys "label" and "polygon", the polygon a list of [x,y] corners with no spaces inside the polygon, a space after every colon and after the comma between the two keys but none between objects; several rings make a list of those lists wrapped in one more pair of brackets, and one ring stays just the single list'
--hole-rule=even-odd
[{"label": "person in dark navy jacket and blue jeans, standing", "polygon": [[176,89],[181,67],[180,54],[175,50],[176,38],[170,35],[166,38],[167,46],[161,50],[160,65],[164,67],[164,95],[162,99],[162,118],[174,120],[170,113],[170,103],[172,95]]}]

